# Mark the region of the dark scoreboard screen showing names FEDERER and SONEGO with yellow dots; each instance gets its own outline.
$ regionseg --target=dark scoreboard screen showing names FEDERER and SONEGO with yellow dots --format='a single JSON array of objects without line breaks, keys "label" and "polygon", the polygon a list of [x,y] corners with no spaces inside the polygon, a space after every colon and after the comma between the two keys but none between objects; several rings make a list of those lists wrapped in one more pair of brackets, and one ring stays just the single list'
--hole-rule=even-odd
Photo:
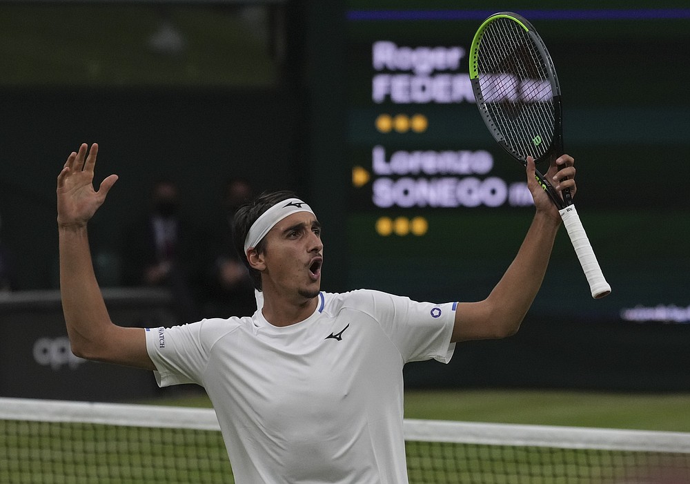
[{"label": "dark scoreboard screen showing names FEDERER and SONEGO with yellow dots", "polygon": [[[494,12],[389,3],[351,0],[346,11],[347,284],[483,299],[534,211],[524,169],[493,141],[469,81],[473,35]],[[688,323],[690,9],[589,3],[513,10],[558,71],[575,202],[613,292],[591,298],[562,229],[533,311]]]}]

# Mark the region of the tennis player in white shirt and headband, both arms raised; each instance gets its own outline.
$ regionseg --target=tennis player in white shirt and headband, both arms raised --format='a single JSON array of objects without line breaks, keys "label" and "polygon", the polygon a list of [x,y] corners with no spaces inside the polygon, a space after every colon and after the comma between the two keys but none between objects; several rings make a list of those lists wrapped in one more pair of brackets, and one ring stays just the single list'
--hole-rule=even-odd
[{"label": "tennis player in white shirt and headband, both arms raised", "polygon": [[[313,209],[292,193],[271,193],[235,219],[236,244],[259,295],[253,316],[119,327],[103,303],[86,230],[117,175],[95,191],[98,146],[87,150],[82,144],[71,153],[57,179],[60,282],[72,351],[155,371],[161,386],[203,386],[240,484],[408,482],[403,366],[448,362],[456,342],[515,333],[542,283],[561,220],[530,159],[533,222],[489,297],[413,302],[364,289],[322,291],[324,245]],[[564,168],[557,171],[557,164]],[[560,157],[547,176],[558,190],[575,192],[573,158]]]}]

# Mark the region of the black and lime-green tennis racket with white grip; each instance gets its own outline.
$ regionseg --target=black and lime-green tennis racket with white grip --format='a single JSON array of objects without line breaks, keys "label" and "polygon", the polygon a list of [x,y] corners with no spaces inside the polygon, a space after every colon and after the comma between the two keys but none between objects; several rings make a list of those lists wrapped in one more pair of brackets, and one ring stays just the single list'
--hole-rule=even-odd
[{"label": "black and lime-green tennis racket with white grip", "polygon": [[[477,107],[494,139],[523,166],[532,156],[546,167],[564,153],[558,77],[544,41],[518,14],[499,12],[482,23],[470,48],[470,79]],[[570,190],[562,197],[537,171],[558,207],[586,275],[592,297],[611,293]]]}]

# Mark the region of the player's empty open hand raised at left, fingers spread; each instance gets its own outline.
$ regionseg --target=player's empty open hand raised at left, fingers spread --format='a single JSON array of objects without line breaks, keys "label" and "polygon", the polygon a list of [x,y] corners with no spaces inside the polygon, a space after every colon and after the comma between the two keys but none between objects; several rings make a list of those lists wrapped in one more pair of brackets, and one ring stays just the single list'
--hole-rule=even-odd
[{"label": "player's empty open hand raised at left, fingers spread", "polygon": [[117,181],[117,175],[110,175],[101,182],[98,191],[93,189],[98,144],[91,145],[88,157],[87,148],[87,144],[83,143],[79,146],[79,153],[72,152],[57,177],[58,226],[86,226]]}]

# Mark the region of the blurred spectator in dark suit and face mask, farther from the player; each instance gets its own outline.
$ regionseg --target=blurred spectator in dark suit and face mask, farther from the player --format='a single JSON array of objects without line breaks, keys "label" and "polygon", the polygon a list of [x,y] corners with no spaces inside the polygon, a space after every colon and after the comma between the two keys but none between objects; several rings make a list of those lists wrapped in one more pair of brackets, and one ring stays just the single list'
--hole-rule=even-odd
[{"label": "blurred spectator in dark suit and face mask, farther from the player", "polygon": [[179,323],[201,319],[199,297],[206,238],[195,224],[181,215],[177,185],[156,182],[151,191],[150,212],[124,235],[123,280],[132,286],[168,287]]}]

